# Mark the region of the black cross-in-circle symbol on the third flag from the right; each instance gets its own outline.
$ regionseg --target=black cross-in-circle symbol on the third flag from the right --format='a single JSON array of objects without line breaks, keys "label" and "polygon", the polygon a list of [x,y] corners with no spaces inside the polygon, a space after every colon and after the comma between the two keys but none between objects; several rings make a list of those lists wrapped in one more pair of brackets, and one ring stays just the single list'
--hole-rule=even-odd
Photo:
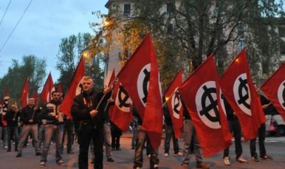
[{"label": "black cross-in-circle symbol on the third flag from the right", "polygon": [[[212,93],[216,94],[217,91],[215,87],[206,87],[203,86],[203,89],[205,92],[203,92],[202,98],[201,98],[201,104],[202,104],[202,110],[199,112],[200,115],[205,115],[210,121],[212,122],[219,122],[220,123],[220,117],[219,117],[219,111],[217,109],[217,100],[213,99]],[[206,105],[207,98],[210,100],[210,104]],[[210,111],[214,110],[215,117],[210,115]]]}]

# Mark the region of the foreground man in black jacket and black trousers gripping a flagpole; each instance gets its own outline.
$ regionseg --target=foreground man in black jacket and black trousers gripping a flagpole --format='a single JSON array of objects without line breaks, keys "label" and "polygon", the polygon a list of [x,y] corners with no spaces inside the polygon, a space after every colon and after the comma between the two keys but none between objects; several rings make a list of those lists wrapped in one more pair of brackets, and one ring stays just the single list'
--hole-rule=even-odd
[{"label": "foreground man in black jacket and black trousers gripping a flagpole", "polygon": [[[71,107],[71,114],[75,121],[79,122],[78,143],[80,153],[78,164],[80,169],[88,169],[88,150],[91,140],[94,143],[94,168],[103,168],[103,142],[104,142],[104,106],[99,105],[101,99],[108,101],[110,89],[103,92],[94,92],[94,80],[87,76],[82,80],[83,92],[75,97]],[[104,95],[104,93],[106,95]]]}]

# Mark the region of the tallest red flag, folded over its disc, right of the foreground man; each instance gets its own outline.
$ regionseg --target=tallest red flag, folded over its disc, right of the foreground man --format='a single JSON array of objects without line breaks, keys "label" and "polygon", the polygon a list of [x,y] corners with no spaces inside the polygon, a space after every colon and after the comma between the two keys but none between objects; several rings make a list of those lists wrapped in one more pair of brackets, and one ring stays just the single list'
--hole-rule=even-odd
[{"label": "tallest red flag, folded over its disc, right of the foreground man", "polygon": [[120,71],[118,79],[134,102],[151,145],[157,148],[162,136],[163,112],[158,62],[151,35],[146,35]]}]

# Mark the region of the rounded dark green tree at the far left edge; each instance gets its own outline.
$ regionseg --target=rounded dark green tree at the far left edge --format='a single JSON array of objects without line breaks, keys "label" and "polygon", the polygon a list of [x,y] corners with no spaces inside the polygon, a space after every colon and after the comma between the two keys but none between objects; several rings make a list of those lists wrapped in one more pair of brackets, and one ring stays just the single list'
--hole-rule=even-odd
[{"label": "rounded dark green tree at the far left edge", "polygon": [[35,89],[39,89],[42,86],[46,76],[46,61],[44,59],[29,55],[23,56],[22,60],[22,63],[19,63],[13,59],[11,67],[8,68],[8,73],[0,79],[0,87],[3,89],[1,91],[2,95],[4,95],[4,89],[8,89],[9,96],[17,101],[20,97],[25,77],[29,78],[29,90],[30,94],[32,94]]}]

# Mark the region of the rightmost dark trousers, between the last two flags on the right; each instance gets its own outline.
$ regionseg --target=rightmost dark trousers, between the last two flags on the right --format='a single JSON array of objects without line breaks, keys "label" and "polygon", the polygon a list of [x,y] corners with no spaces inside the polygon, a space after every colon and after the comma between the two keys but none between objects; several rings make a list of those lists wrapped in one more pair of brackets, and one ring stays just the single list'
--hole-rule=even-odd
[{"label": "rightmost dark trousers, between the last two flags on the right", "polygon": [[[250,149],[251,149],[251,156],[258,156],[256,153],[256,138],[251,139],[250,142]],[[259,145],[259,153],[260,157],[266,156],[266,150],[265,150],[265,123],[260,125],[258,129],[258,145]]]}]

